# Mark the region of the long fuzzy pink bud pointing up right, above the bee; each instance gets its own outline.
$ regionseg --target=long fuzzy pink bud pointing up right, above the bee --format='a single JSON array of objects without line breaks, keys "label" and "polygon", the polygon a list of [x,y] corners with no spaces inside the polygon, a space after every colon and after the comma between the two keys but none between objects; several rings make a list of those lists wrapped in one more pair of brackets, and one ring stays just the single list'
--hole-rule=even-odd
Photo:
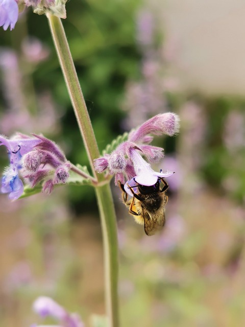
[{"label": "long fuzzy pink bud pointing up right, above the bee", "polygon": [[148,134],[173,136],[179,131],[179,116],[173,112],[158,114],[129,134],[130,142],[145,141]]}]

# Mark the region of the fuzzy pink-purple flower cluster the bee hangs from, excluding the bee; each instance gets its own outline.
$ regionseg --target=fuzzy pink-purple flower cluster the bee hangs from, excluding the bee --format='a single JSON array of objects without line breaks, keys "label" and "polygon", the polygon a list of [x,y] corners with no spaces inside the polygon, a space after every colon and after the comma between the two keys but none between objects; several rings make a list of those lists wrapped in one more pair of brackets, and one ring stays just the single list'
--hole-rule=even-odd
[{"label": "fuzzy pink-purple flower cluster the bee hangs from, excluding the bee", "polygon": [[179,117],[175,113],[158,114],[129,133],[128,140],[118,145],[110,154],[94,160],[94,168],[102,173],[109,171],[115,175],[115,184],[154,185],[159,177],[168,177],[173,172],[155,172],[149,162],[157,162],[163,157],[163,149],[150,145],[153,135],[167,134],[173,136],[179,130]]}]

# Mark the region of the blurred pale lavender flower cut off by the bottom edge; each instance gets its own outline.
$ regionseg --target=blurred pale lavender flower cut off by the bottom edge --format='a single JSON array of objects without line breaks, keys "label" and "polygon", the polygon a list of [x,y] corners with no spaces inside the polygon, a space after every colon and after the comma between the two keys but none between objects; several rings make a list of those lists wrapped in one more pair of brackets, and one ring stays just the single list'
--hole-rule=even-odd
[{"label": "blurred pale lavender flower cut off by the bottom edge", "polygon": [[84,327],[83,322],[77,314],[69,314],[52,298],[47,296],[38,297],[33,303],[33,310],[42,318],[51,316],[59,321],[63,327]]}]

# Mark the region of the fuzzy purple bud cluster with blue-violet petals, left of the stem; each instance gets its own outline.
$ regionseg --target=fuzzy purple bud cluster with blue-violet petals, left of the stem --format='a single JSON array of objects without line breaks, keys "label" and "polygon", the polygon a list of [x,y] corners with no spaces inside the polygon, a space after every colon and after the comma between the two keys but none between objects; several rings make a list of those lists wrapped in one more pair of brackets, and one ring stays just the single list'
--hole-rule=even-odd
[{"label": "fuzzy purple bud cluster with blue-violet petals, left of the stem", "polygon": [[42,191],[50,194],[55,184],[65,183],[69,177],[70,164],[59,147],[49,139],[33,134],[29,137],[16,134],[11,139],[0,136],[0,146],[8,149],[10,165],[2,178],[2,193],[9,193],[12,200],[18,199],[24,189],[20,177],[31,188],[40,182]]}]

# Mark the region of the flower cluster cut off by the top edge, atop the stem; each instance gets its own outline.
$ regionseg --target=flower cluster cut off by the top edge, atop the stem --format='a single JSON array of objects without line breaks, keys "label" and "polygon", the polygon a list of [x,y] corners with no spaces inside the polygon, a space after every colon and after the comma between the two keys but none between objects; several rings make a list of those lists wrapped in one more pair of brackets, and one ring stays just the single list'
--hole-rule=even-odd
[{"label": "flower cluster cut off by the top edge, atop the stem", "polygon": [[0,26],[6,31],[10,26],[13,30],[18,20],[18,13],[24,7],[32,7],[39,15],[50,13],[60,18],[66,18],[66,0],[0,0]]}]

